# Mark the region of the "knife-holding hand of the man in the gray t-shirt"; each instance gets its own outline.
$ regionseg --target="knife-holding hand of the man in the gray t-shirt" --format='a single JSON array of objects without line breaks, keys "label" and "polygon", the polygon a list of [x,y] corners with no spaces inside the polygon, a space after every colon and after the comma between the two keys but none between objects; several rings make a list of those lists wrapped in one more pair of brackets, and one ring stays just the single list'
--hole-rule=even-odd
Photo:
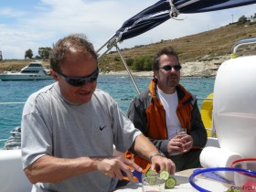
[{"label": "knife-holding hand of the man in the gray t-shirt", "polygon": [[97,169],[104,175],[123,179],[123,171],[129,180],[133,182],[133,173],[130,167],[139,172],[143,171],[139,165],[136,165],[133,161],[126,159],[123,156],[101,158],[98,159],[97,163]]}]

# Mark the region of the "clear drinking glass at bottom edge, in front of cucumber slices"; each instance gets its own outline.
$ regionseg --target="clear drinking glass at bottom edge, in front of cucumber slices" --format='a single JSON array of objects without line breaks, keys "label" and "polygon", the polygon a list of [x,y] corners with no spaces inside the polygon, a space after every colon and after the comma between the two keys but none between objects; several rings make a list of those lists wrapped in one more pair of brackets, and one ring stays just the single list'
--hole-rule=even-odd
[{"label": "clear drinking glass at bottom edge, in front of cucumber slices", "polygon": [[165,179],[158,176],[148,176],[143,179],[144,192],[165,192]]}]

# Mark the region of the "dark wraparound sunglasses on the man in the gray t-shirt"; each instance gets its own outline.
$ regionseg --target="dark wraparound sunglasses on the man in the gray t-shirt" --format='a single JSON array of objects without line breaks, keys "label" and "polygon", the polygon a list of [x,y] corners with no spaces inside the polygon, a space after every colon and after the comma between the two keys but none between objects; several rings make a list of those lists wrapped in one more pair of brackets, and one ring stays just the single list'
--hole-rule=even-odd
[{"label": "dark wraparound sunglasses on the man in the gray t-shirt", "polygon": [[68,77],[66,75],[63,75],[60,72],[57,72],[59,74],[59,76],[66,80],[70,85],[75,86],[75,87],[81,87],[83,85],[85,85],[88,82],[93,82],[95,80],[97,80],[98,76],[99,76],[99,69],[97,68],[93,73],[91,73],[91,75],[88,75],[86,77]]}]

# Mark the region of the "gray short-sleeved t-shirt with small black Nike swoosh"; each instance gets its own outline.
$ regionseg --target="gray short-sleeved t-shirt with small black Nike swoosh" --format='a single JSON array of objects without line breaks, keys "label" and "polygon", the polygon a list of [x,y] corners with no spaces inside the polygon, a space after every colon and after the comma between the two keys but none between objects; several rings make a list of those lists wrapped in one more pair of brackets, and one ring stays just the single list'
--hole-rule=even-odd
[{"label": "gray short-sleeved t-shirt with small black Nike swoosh", "polygon": [[[125,152],[141,133],[108,93],[96,89],[91,101],[74,105],[61,96],[58,82],[27,99],[21,129],[23,168],[43,155],[112,156],[113,144]],[[94,171],[59,183],[37,183],[32,191],[101,192],[108,191],[111,180]]]}]

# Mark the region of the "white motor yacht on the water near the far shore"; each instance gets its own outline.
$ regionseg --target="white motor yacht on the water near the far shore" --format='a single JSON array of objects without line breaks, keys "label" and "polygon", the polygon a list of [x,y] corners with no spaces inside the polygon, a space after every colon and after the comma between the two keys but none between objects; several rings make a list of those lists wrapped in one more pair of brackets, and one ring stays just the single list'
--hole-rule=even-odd
[{"label": "white motor yacht on the water near the far shore", "polygon": [[0,74],[0,80],[50,80],[52,79],[48,69],[38,61],[30,62],[19,72],[4,72]]}]

